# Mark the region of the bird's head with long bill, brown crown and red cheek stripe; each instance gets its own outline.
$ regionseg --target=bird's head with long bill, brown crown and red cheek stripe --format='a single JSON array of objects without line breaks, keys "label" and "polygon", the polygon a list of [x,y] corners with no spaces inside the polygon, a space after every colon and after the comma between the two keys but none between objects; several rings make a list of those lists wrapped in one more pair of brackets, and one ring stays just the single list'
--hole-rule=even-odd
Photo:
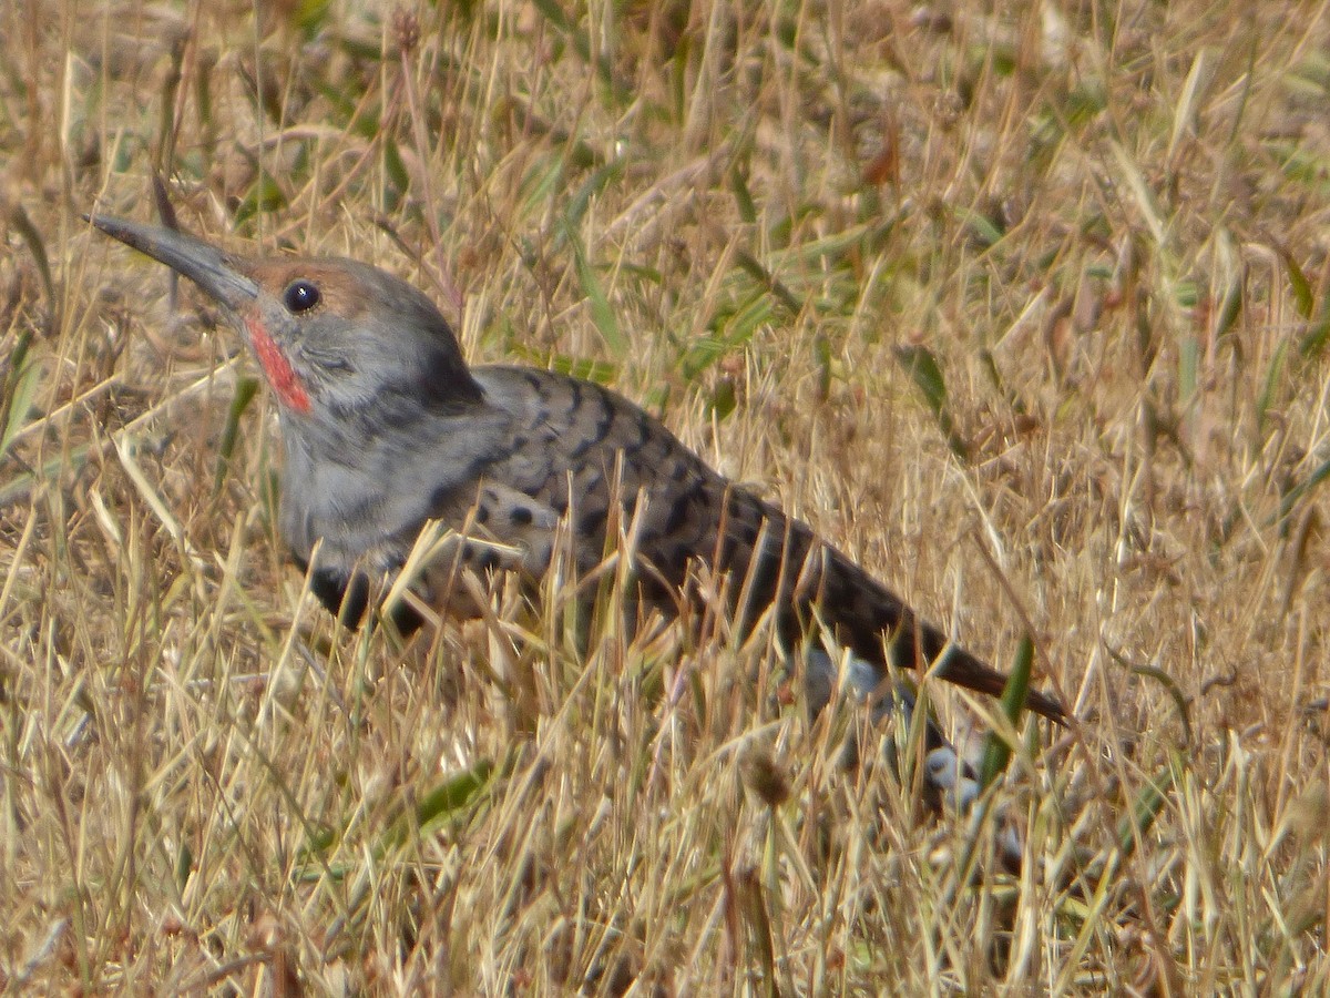
[{"label": "bird's head with long bill, brown crown and red cheek stripe", "polygon": [[108,236],[206,291],[254,351],[283,422],[464,411],[480,389],[434,303],[351,259],[241,257],[193,236],[93,216]]}]

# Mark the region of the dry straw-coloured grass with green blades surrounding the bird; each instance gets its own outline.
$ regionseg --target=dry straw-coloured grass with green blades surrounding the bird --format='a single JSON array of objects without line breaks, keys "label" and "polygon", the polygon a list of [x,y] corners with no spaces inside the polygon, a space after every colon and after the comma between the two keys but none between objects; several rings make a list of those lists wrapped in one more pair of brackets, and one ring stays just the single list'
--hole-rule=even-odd
[{"label": "dry straw-coloured grass with green blades surrounding the bird", "polygon": [[[358,7],[0,5],[0,983],[1327,987],[1325,5]],[[1020,876],[759,647],[338,632],[253,363],[78,220],[154,177],[1029,631]]]}]

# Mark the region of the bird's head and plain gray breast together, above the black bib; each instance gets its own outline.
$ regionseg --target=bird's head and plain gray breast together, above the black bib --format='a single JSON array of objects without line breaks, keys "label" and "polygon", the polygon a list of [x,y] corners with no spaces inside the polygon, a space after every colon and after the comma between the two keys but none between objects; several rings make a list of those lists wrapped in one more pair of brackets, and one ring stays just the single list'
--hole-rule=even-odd
[{"label": "bird's head and plain gray breast together, above the black bib", "polygon": [[245,337],[279,405],[282,532],[301,558],[323,540],[340,567],[394,560],[388,539],[403,543],[431,496],[493,451],[501,414],[415,287],[355,261],[239,257],[169,229],[92,222],[190,278]]}]

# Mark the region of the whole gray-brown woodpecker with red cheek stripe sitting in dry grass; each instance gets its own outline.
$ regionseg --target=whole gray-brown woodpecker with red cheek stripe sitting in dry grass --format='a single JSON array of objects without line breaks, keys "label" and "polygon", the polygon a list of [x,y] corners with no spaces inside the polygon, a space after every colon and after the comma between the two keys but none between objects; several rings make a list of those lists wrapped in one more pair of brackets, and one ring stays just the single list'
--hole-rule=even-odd
[{"label": "whole gray-brown woodpecker with red cheek stripe sitting in dry grass", "polygon": [[[434,302],[386,270],[85,218],[198,285],[249,345],[277,401],[281,536],[343,624],[363,620],[374,582],[403,568],[428,524],[451,528],[455,544],[415,583],[427,604],[451,599],[459,567],[539,584],[560,538],[589,574],[610,524],[634,523],[634,605],[678,616],[701,599],[701,570],[728,578],[738,633],[769,617],[782,648],[811,649],[814,711],[835,683],[829,643],[847,649],[850,684],[875,716],[914,708],[902,671],[1003,692],[1005,675],[621,394],[544,369],[468,365]],[[394,620],[404,632],[422,623],[410,605]],[[1025,707],[1067,719],[1033,688]],[[935,781],[972,796],[972,773],[931,723],[927,747]]]}]

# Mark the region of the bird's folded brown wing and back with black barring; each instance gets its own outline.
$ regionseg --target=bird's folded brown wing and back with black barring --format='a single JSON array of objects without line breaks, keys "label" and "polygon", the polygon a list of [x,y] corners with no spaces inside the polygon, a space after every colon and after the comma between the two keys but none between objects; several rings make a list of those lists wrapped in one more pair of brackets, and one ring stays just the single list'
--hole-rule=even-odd
[{"label": "bird's folded brown wing and back with black barring", "polygon": [[[481,367],[475,374],[489,403],[511,416],[512,435],[485,470],[479,498],[471,492],[468,524],[505,550],[468,540],[459,548],[463,563],[539,578],[564,519],[583,574],[602,562],[618,535],[628,538],[640,596],[668,616],[680,599],[696,595],[690,568],[701,564],[729,576],[741,633],[770,612],[787,649],[825,627],[883,679],[890,665],[936,668],[959,685],[1001,692],[1005,676],[919,621],[895,592],[807,524],[713,471],[628,399],[551,371]],[[462,508],[438,515],[467,519]],[[1027,704],[1049,717],[1063,713],[1036,691]]]}]

